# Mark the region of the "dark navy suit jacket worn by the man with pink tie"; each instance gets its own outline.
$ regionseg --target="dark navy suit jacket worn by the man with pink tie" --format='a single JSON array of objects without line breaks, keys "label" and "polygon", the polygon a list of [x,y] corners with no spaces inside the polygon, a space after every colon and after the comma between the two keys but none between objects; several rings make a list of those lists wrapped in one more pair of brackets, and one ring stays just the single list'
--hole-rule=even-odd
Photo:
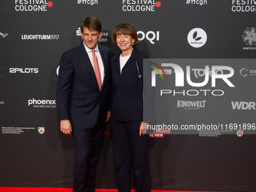
[{"label": "dark navy suit jacket worn by the man with pink tie", "polygon": [[101,90],[83,43],[63,53],[60,59],[57,118],[70,120],[73,128],[92,128],[98,117],[104,125],[110,111],[112,52],[108,47],[98,47],[105,70]]}]

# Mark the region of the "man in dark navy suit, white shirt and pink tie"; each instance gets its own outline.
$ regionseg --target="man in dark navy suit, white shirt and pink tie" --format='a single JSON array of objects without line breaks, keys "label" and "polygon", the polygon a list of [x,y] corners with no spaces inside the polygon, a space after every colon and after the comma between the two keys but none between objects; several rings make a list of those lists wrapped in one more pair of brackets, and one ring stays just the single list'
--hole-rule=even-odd
[{"label": "man in dark navy suit, white shirt and pink tie", "polygon": [[98,45],[98,18],[81,21],[83,43],[62,54],[57,83],[60,130],[75,143],[73,191],[95,191],[96,159],[110,118],[111,55]]}]

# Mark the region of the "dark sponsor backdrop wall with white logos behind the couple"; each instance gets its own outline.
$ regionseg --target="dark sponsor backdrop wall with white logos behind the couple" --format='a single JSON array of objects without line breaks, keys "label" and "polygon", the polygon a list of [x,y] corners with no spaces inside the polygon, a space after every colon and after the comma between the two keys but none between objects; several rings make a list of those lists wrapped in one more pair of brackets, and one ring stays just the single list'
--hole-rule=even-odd
[{"label": "dark sponsor backdrop wall with white logos behind the couple", "polygon": [[[81,20],[96,16],[99,44],[118,53],[111,30],[132,23],[138,49],[169,78],[152,71],[157,123],[179,130],[150,136],[152,188],[254,191],[255,8],[254,0],[2,0],[0,186],[72,187],[74,145],[56,120],[58,66],[81,43]],[[113,159],[108,123],[96,187],[117,187]]]}]

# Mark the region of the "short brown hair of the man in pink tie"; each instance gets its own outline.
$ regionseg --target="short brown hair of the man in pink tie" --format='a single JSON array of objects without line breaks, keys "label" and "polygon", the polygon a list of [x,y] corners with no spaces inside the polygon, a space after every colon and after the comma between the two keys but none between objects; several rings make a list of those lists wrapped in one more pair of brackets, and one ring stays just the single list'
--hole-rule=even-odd
[{"label": "short brown hair of the man in pink tie", "polygon": [[96,30],[99,33],[102,32],[102,23],[100,23],[97,17],[87,17],[81,21],[81,32],[84,32],[84,27],[89,30]]}]

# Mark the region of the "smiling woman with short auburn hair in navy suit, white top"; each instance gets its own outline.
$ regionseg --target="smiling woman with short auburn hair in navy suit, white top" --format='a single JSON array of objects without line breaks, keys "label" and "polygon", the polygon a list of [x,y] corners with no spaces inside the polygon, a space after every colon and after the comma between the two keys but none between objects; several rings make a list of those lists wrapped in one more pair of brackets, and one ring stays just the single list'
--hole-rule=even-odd
[{"label": "smiling woman with short auburn hair in navy suit, white top", "polygon": [[[111,59],[112,107],[111,126],[114,138],[114,162],[119,192],[130,192],[130,169],[133,156],[136,192],[151,191],[148,163],[148,135],[143,125],[143,96],[139,73],[143,75],[145,53],[139,44],[136,29],[130,23],[119,23],[112,32],[112,41],[121,52]],[[139,66],[139,72],[136,62]]]}]

